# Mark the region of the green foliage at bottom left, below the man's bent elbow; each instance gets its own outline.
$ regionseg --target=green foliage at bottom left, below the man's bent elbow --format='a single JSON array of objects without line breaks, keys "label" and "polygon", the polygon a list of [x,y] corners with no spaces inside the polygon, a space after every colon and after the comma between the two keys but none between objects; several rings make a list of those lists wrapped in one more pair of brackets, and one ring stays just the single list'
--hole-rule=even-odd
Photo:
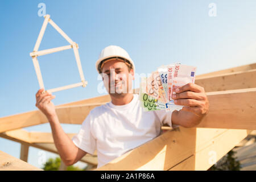
[{"label": "green foliage at bottom left, below the man's bent elbow", "polygon": [[[46,162],[46,164],[44,164],[44,171],[59,171],[59,167],[60,167],[60,163],[61,163],[61,159],[59,157],[52,159],[49,158]],[[75,167],[75,166],[68,166],[67,167],[67,171],[82,171],[83,169],[79,168],[79,167]]]}]

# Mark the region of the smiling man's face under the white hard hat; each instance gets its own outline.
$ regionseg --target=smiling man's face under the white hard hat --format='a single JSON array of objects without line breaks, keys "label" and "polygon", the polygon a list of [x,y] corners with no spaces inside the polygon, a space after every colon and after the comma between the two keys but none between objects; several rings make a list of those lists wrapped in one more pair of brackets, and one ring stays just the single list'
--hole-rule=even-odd
[{"label": "smiling man's face under the white hard hat", "polygon": [[109,60],[103,65],[102,78],[106,90],[112,96],[131,93],[134,80],[133,69],[130,70],[123,61]]}]

